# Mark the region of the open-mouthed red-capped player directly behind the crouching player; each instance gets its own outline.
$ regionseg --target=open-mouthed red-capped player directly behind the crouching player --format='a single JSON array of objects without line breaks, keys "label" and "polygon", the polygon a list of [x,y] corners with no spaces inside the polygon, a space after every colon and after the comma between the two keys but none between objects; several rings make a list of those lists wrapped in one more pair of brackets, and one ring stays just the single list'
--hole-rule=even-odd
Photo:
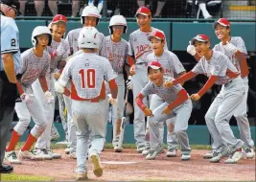
[{"label": "open-mouthed red-capped player directly behind the crouching player", "polygon": [[[181,75],[185,74],[185,69],[181,62],[179,61],[178,57],[175,56],[174,53],[165,50],[165,35],[161,31],[155,31],[149,36],[149,40],[151,41],[151,48],[152,53],[148,55],[146,61],[149,64],[151,61],[158,61],[161,63],[161,65],[164,68],[164,75],[171,78],[178,78]],[[162,104],[164,101],[157,96],[156,94],[153,94],[151,97],[151,110],[154,110],[156,107],[158,107],[160,104]],[[174,120],[175,117],[172,118]],[[174,122],[172,120],[166,121],[166,124],[168,125],[168,135],[167,135],[167,144],[168,144],[168,151],[166,153],[166,156],[168,157],[175,157],[176,150],[178,147],[178,144],[176,142],[176,137],[174,134]],[[160,137],[161,141],[163,141],[163,122],[160,123]],[[147,127],[149,127],[149,124],[147,124]],[[185,138],[186,139],[186,138]],[[185,140],[184,139],[184,140]],[[150,138],[151,140],[151,138]],[[151,148],[147,148],[142,151],[143,155],[148,155]],[[150,146],[149,146],[150,147]],[[190,148],[186,148],[187,150],[190,150]]]}]

